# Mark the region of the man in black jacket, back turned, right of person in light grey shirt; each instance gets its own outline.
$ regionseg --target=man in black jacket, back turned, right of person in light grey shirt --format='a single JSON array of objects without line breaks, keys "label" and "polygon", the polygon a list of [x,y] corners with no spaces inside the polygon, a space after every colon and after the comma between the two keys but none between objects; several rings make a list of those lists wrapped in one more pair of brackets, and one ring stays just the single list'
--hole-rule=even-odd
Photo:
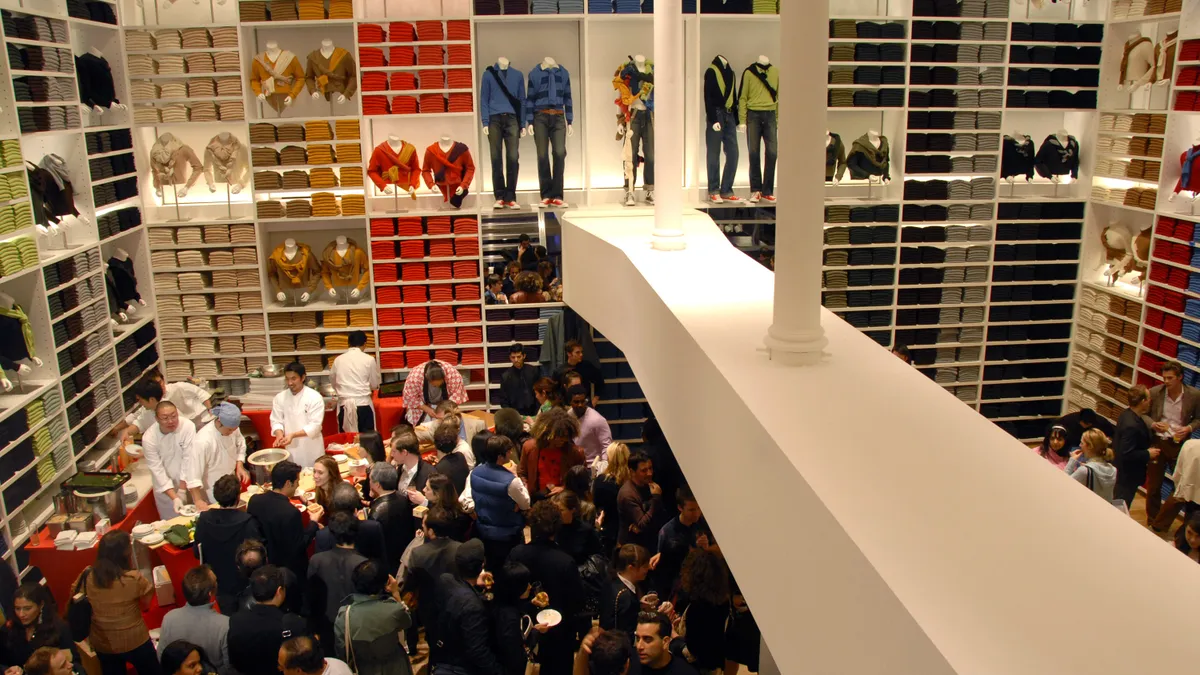
[{"label": "man in black jacket, back turned, right of person in light grey shirt", "polygon": [[[295,509],[292,509],[295,510]],[[280,645],[305,634],[305,621],[281,609],[287,596],[283,572],[268,565],[250,578],[254,604],[229,619],[229,663],[238,673],[278,673]]]}]

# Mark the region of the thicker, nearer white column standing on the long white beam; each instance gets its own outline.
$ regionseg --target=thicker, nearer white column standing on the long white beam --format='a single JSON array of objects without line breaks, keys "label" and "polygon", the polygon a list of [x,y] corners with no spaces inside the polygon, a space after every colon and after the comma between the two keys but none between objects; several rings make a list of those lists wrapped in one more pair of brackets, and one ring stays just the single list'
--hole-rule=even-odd
[{"label": "thicker, nearer white column standing on the long white beam", "polygon": [[[671,2],[664,2],[664,6]],[[658,7],[655,7],[658,11]],[[763,342],[772,360],[805,365],[828,344],[821,328],[824,221],[826,68],[829,2],[780,2],[779,185],[774,319]]]}]

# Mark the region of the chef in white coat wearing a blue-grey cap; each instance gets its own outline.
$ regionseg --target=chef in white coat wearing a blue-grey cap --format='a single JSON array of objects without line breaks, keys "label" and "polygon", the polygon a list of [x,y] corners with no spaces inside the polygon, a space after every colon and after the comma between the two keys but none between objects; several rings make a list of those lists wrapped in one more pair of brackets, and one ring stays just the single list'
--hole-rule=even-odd
[{"label": "chef in white coat wearing a blue-grey cap", "polygon": [[192,462],[184,467],[184,480],[192,501],[202,508],[215,503],[212,486],[222,476],[230,473],[239,480],[248,480],[244,466],[246,461],[246,437],[241,435],[241,410],[233,404],[212,406],[212,424],[205,424],[196,432]]}]

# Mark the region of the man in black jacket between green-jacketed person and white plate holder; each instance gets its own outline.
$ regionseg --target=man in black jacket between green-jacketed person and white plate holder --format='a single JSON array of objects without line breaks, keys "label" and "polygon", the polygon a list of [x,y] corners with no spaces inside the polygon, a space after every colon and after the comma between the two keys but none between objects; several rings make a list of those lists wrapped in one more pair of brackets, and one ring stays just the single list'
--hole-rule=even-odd
[{"label": "man in black jacket between green-jacketed person and white plate holder", "polygon": [[472,539],[455,552],[454,574],[438,579],[438,638],[430,643],[430,665],[434,674],[443,670],[439,665],[455,675],[504,673],[492,652],[487,608],[476,589],[482,572],[484,543]]}]

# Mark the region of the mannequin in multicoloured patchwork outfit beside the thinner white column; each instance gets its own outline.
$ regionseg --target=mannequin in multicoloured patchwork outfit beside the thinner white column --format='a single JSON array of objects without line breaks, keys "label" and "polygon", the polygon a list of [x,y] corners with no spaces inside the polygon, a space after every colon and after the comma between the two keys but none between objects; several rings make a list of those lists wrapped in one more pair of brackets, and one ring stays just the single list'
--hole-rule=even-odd
[{"label": "mannequin in multicoloured patchwork outfit beside the thinner white column", "polygon": [[[637,165],[644,165],[642,186],[646,203],[654,203],[654,64],[638,54],[617,68],[612,86],[617,90],[617,138],[622,144],[625,173],[625,205],[632,207]],[[641,161],[640,161],[641,157]]]}]

